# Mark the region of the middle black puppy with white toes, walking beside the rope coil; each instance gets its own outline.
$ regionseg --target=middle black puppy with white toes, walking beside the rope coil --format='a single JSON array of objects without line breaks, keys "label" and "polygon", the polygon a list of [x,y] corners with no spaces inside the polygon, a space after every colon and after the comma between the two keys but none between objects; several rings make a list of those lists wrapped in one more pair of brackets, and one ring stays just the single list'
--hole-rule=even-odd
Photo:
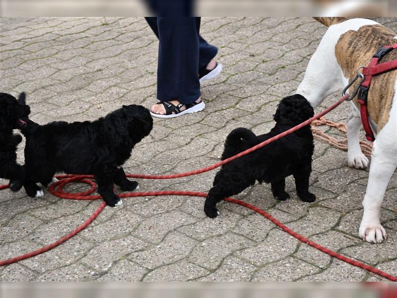
[{"label": "middle black puppy with white toes, walking beside the rope coil", "polygon": [[104,118],[89,122],[51,122],[39,125],[26,119],[21,129],[26,137],[24,188],[30,197],[44,195],[37,182],[50,185],[56,172],[92,174],[98,193],[111,206],[123,202],[114,193],[113,183],[124,191],[138,183],[126,178],[121,167],[130,158],[135,144],[149,135],[153,119],[140,105],[123,105]]}]

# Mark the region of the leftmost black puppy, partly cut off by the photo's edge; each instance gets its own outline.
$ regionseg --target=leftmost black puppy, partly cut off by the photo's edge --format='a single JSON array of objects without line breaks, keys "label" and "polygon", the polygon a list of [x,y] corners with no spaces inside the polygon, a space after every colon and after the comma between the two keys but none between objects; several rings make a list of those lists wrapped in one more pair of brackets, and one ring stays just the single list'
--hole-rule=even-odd
[{"label": "leftmost black puppy, partly cut off by the photo's edge", "polygon": [[[19,95],[22,100],[24,96],[24,93]],[[26,123],[20,118],[29,113],[29,106],[19,104],[10,94],[0,93],[0,177],[10,180],[12,191],[20,190],[25,179],[23,167],[16,163],[16,146],[22,137],[13,135],[12,130],[22,128]]]}]

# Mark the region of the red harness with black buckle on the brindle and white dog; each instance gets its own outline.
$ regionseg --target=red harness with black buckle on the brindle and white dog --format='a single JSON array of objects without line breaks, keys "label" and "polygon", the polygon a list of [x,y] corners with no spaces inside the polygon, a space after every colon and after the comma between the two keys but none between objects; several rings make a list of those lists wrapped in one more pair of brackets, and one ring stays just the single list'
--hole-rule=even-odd
[{"label": "red harness with black buckle on the brindle and white dog", "polygon": [[363,74],[365,78],[360,86],[357,96],[357,101],[360,104],[361,121],[363,123],[363,127],[365,130],[365,137],[367,138],[368,141],[371,142],[375,141],[375,136],[374,133],[372,132],[368,120],[368,109],[367,109],[368,89],[371,85],[371,80],[373,76],[397,69],[397,60],[379,64],[383,56],[385,56],[387,53],[389,53],[394,49],[397,49],[397,44],[393,44],[391,46],[386,46],[381,48],[372,57],[368,66],[363,68]]}]

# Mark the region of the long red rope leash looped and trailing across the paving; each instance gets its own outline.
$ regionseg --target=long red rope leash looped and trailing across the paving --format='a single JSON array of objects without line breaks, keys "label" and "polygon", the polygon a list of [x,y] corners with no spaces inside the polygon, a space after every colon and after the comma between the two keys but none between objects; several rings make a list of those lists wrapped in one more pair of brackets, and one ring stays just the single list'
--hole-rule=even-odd
[{"label": "long red rope leash looped and trailing across the paving", "polygon": [[[264,146],[266,146],[267,144],[278,140],[288,134],[293,133],[294,131],[302,128],[305,125],[308,125],[309,123],[313,122],[316,119],[319,119],[320,117],[322,117],[323,115],[327,114],[328,112],[330,112],[332,109],[334,109],[336,106],[338,106],[340,103],[342,103],[346,98],[348,98],[349,95],[346,94],[344,97],[342,97],[338,102],[334,103],[333,105],[331,105],[329,108],[327,108],[326,110],[324,110],[323,112],[316,114],[314,117],[310,118],[309,120],[301,123],[300,125],[287,130],[271,139],[266,140],[265,142],[251,148],[248,150],[245,150],[235,156],[232,156],[230,158],[227,158],[225,160],[222,160],[214,165],[202,168],[202,169],[198,169],[195,171],[190,171],[190,172],[186,172],[186,173],[180,173],[180,174],[172,174],[172,175],[139,175],[139,174],[127,174],[127,177],[130,178],[141,178],[141,179],[172,179],[172,178],[179,178],[179,177],[186,177],[186,176],[191,176],[191,175],[196,175],[199,173],[203,173],[203,172],[207,172],[210,171],[216,167],[219,167],[231,160],[234,160],[238,157],[241,157],[243,155],[249,154],[250,152],[257,150],[259,148],[262,148]],[[57,176],[58,179],[61,179],[60,181],[52,184],[50,186],[50,192],[60,198],[64,198],[64,199],[71,199],[71,200],[95,200],[95,199],[102,199],[101,196],[96,195],[96,196],[92,196],[90,195],[91,193],[93,193],[96,190],[96,184],[95,182],[93,182],[92,179],[93,176],[92,175],[60,175]],[[63,191],[63,188],[66,186],[66,184],[71,183],[71,182],[80,182],[80,183],[87,183],[89,185],[91,185],[91,189],[84,191],[84,192],[80,192],[80,193],[66,193]],[[0,185],[0,190],[7,188],[8,185]],[[197,197],[206,197],[207,193],[203,193],[203,192],[188,192],[188,191],[152,191],[152,192],[133,192],[133,193],[121,193],[119,194],[119,197],[121,198],[129,198],[129,197],[142,197],[142,196],[169,196],[169,195],[175,195],[175,196],[197,196]],[[297,238],[298,240],[322,251],[325,252],[327,254],[329,254],[331,257],[337,258],[343,262],[346,262],[348,264],[351,264],[353,266],[365,269],[369,272],[372,272],[374,274],[377,274],[379,276],[382,276],[388,280],[391,281],[397,281],[397,277],[390,275],[386,272],[383,272],[377,268],[371,267],[367,264],[352,260],[346,256],[340,255],[320,244],[317,244],[313,241],[310,241],[309,239],[299,235],[298,233],[294,232],[293,230],[291,230],[290,228],[288,228],[286,225],[280,223],[279,221],[277,221],[276,219],[274,219],[272,216],[270,216],[269,214],[267,214],[265,211],[263,211],[262,209],[259,209],[258,207],[255,207],[249,203],[237,200],[237,199],[233,199],[233,198],[225,198],[226,201],[234,203],[234,204],[238,204],[241,205],[243,207],[249,208],[259,214],[261,214],[262,216],[264,216],[266,219],[270,220],[271,222],[273,222],[274,224],[276,224],[278,227],[280,227],[281,229],[283,229],[284,231],[286,231],[288,234],[290,234],[291,236]],[[63,238],[59,239],[58,241],[47,245],[41,249],[35,250],[33,252],[24,254],[24,255],[20,255],[18,257],[14,257],[11,259],[7,259],[7,260],[3,260],[0,261],[0,266],[4,266],[4,265],[8,265],[8,264],[12,264],[36,255],[39,255],[43,252],[46,252],[58,245],[60,245],[61,243],[65,242],[66,240],[70,239],[71,237],[73,237],[74,235],[76,235],[78,232],[80,232],[82,229],[84,229],[88,224],[90,224],[101,212],[102,210],[105,208],[106,203],[102,202],[102,204],[98,207],[98,209],[91,215],[91,217],[84,222],[83,224],[81,224],[80,226],[78,226],[74,231],[72,231],[70,234],[64,236]]]}]

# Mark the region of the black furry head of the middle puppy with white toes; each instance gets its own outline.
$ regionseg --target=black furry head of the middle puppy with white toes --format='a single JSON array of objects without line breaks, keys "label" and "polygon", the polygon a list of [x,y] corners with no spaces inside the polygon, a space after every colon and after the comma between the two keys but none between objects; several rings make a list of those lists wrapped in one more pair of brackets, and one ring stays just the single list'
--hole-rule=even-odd
[{"label": "black furry head of the middle puppy with white toes", "polygon": [[118,132],[127,131],[133,144],[139,143],[150,134],[153,118],[148,109],[141,105],[123,105],[122,108],[108,114]]}]

